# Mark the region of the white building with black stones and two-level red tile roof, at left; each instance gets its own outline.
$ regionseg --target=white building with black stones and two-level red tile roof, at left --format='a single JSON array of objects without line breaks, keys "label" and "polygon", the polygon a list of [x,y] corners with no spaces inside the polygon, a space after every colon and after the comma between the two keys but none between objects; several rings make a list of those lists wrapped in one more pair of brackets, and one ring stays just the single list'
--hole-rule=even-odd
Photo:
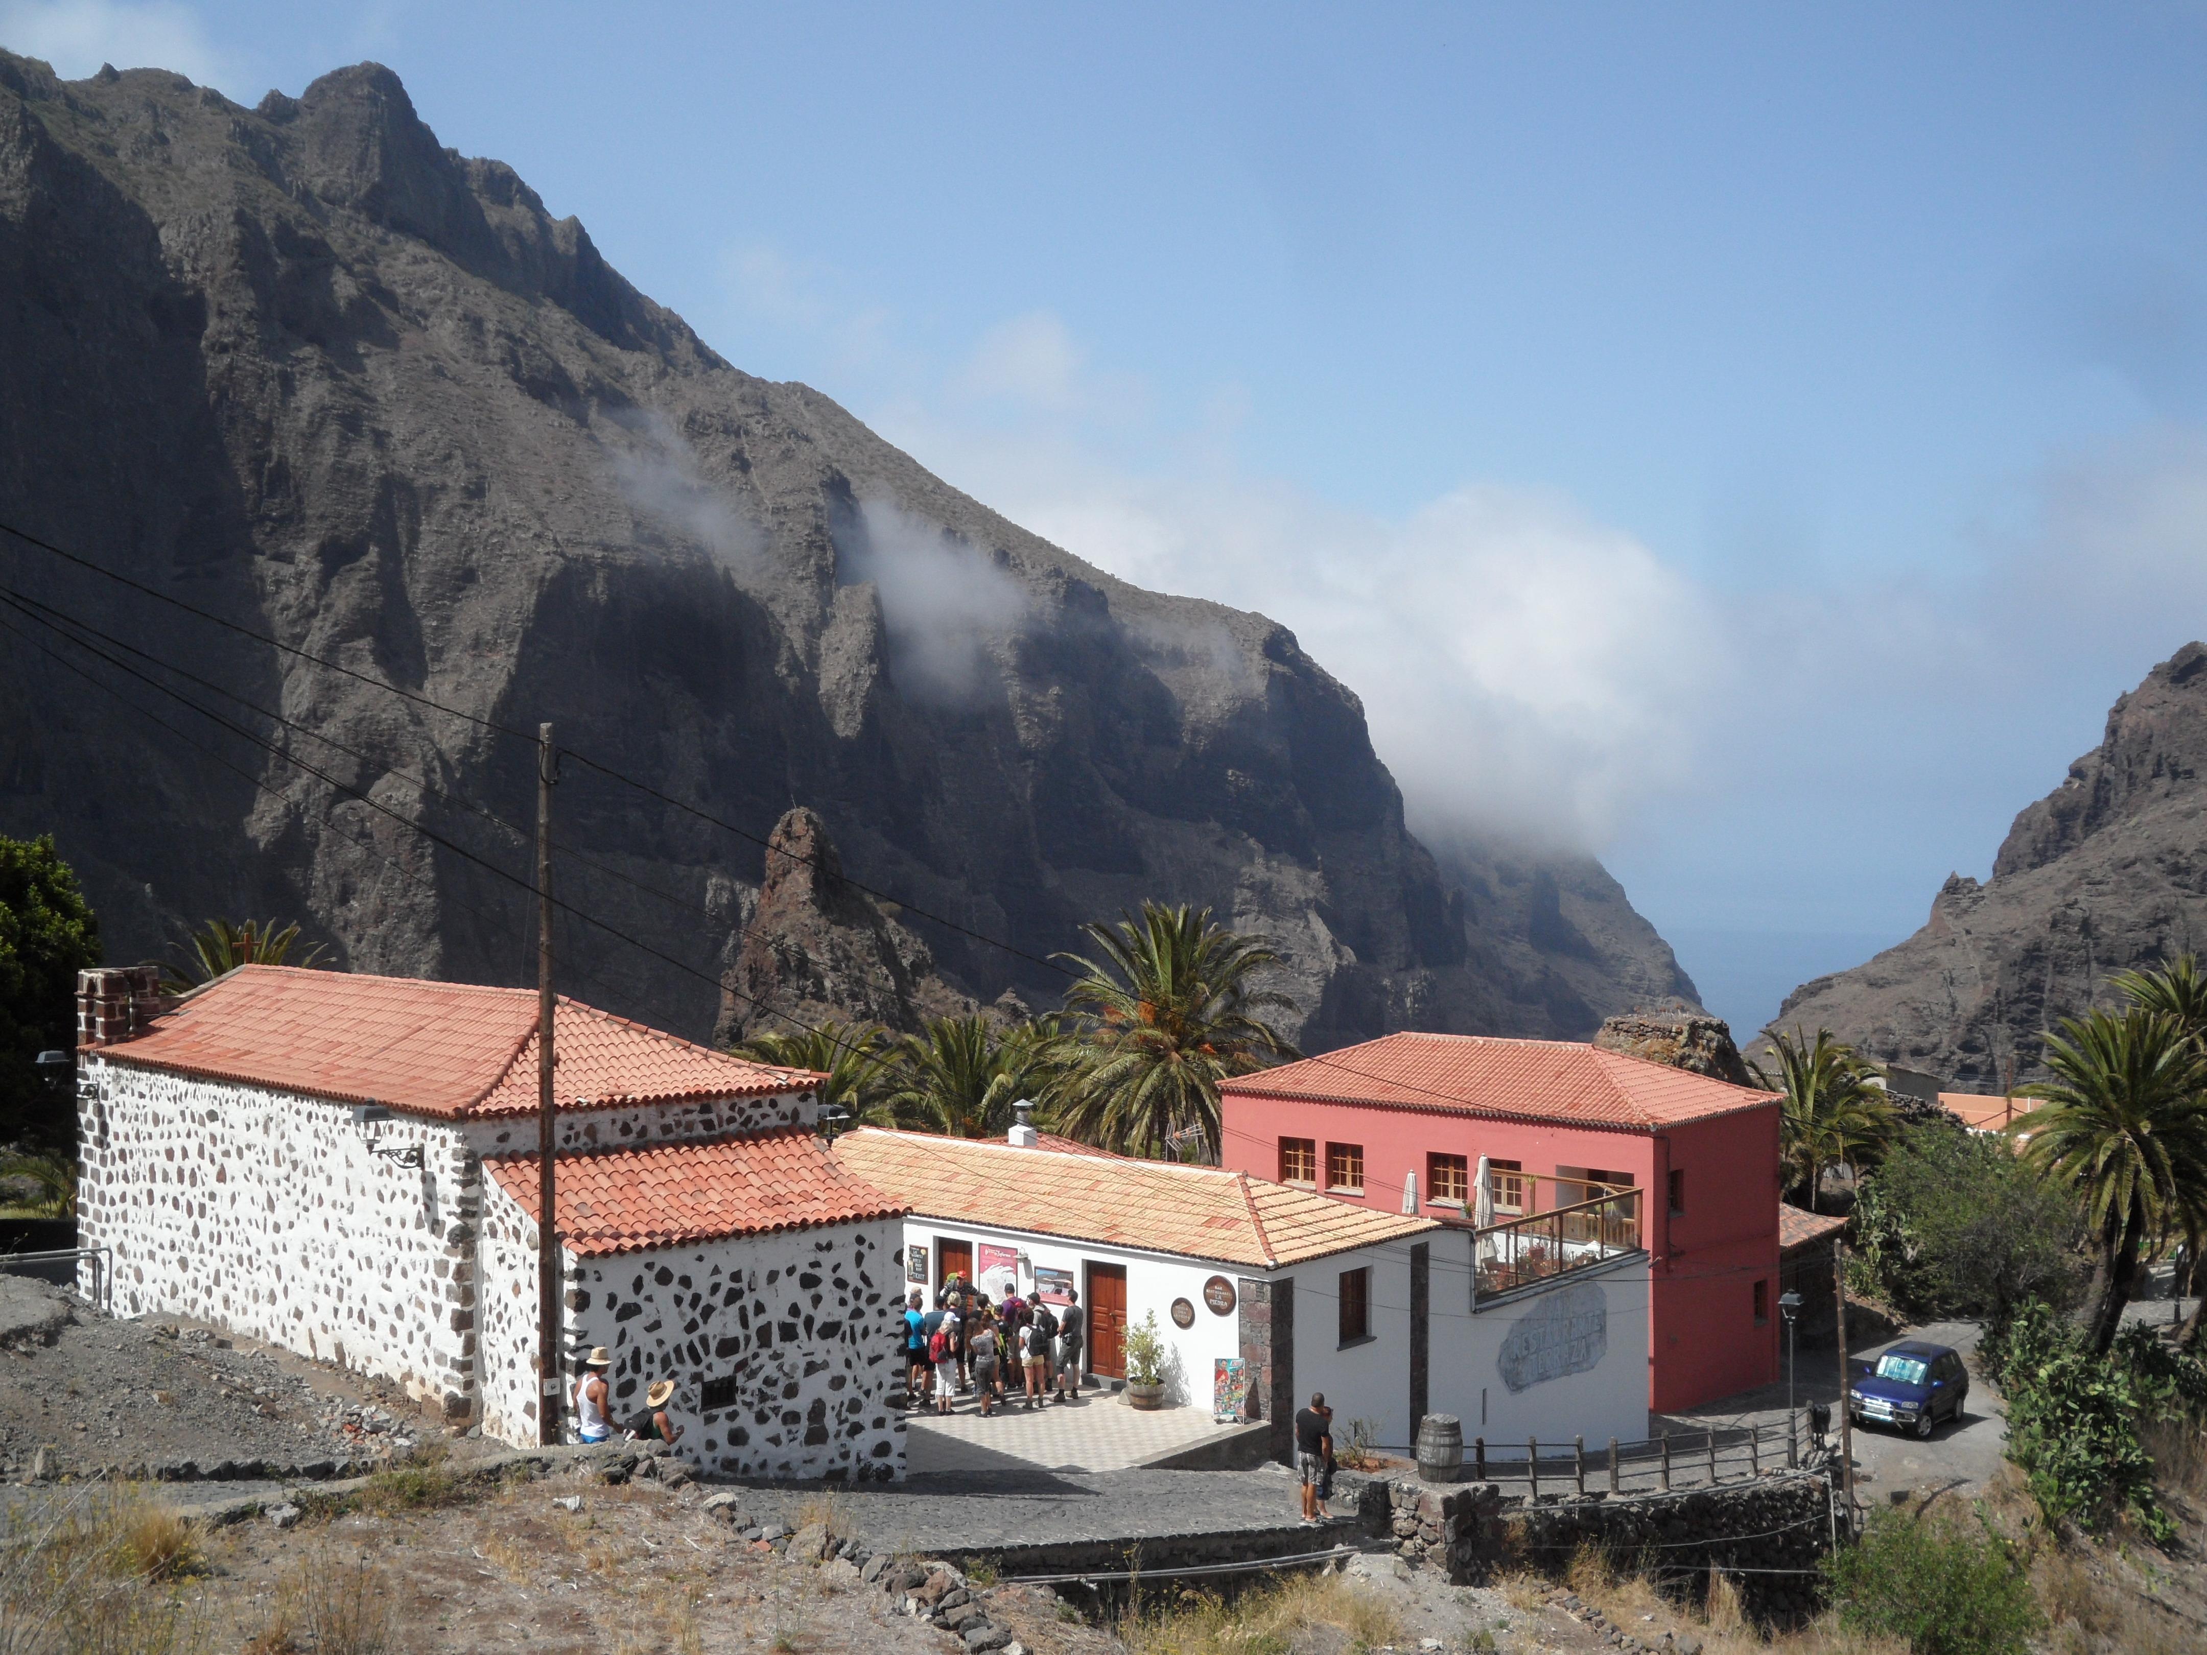
[{"label": "white building with black stones and two-level red tile roof, at left", "polygon": [[[737,1476],[900,1476],[898,1207],[814,1134],[817,1075],[561,1000],[561,1328],[616,1417],[675,1379]],[[536,1441],[536,995],[243,967],[79,980],[79,1234],[115,1311],[192,1315]]]}]

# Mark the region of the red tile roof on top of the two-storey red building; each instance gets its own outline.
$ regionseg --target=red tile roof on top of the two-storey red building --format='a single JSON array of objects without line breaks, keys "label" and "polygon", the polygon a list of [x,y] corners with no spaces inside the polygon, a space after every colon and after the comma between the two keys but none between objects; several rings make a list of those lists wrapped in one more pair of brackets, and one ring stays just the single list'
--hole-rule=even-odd
[{"label": "red tile roof on top of the two-storey red building", "polygon": [[1651,1132],[1777,1101],[1777,1092],[1713,1081],[1576,1039],[1386,1035],[1220,1081],[1229,1097],[1375,1103],[1507,1121]]}]

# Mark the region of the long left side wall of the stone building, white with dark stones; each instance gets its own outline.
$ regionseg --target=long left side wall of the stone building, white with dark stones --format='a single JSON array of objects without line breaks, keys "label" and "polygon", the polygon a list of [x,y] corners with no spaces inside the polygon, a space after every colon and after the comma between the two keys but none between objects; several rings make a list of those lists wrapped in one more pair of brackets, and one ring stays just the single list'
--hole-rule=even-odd
[{"label": "long left side wall of the stone building, white with dark stones", "polygon": [[77,1103],[77,1227],[113,1249],[117,1315],[190,1315],[468,1410],[481,1172],[457,1130],[99,1053]]}]

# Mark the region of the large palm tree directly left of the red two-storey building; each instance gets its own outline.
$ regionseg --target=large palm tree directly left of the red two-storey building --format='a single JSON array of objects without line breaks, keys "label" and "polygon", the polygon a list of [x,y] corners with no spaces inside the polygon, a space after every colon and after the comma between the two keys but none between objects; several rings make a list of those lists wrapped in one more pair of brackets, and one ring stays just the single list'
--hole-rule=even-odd
[{"label": "large palm tree directly left of the red two-storey building", "polygon": [[1194,1134],[1216,1165],[1218,1081],[1300,1055],[1262,1017],[1293,1002],[1254,982],[1280,955],[1185,903],[1143,903],[1139,920],[1081,929],[1104,958],[1057,955],[1081,973],[1066,991],[1075,1028],[1057,1125],[1145,1156],[1170,1156]]}]

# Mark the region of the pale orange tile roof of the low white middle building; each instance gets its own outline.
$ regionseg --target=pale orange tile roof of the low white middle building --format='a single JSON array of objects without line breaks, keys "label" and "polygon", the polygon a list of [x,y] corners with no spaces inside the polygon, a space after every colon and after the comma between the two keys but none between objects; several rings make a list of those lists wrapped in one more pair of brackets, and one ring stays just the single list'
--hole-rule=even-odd
[{"label": "pale orange tile roof of the low white middle building", "polygon": [[836,1139],[859,1178],[916,1214],[1269,1269],[1439,1229],[1218,1167],[1015,1150],[993,1139],[861,1128]]}]

